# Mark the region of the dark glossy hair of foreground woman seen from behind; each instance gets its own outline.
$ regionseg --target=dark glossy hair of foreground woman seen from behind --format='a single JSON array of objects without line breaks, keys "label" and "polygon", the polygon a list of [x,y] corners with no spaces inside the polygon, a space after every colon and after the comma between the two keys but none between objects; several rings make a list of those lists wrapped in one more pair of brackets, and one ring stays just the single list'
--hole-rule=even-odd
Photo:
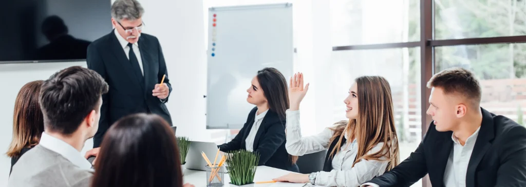
[{"label": "dark glossy hair of foreground woman seen from behind", "polygon": [[100,146],[92,187],[181,187],[179,148],[168,123],[134,114],[110,127]]}]

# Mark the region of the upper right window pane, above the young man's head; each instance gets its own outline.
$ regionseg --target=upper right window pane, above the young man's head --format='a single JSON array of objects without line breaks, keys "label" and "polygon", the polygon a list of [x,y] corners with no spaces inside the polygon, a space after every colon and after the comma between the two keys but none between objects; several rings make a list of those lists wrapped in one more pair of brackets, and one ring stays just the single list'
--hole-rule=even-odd
[{"label": "upper right window pane, above the young man's head", "polygon": [[526,34],[522,0],[434,0],[436,39]]}]

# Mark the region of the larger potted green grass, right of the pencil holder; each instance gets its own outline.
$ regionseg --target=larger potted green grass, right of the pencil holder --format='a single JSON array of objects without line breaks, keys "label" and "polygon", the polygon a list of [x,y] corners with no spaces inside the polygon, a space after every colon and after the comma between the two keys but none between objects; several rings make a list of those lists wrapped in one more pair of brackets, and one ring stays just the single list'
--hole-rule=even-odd
[{"label": "larger potted green grass, right of the pencil holder", "polygon": [[239,150],[225,155],[230,183],[238,186],[254,183],[254,175],[259,163],[258,153]]}]

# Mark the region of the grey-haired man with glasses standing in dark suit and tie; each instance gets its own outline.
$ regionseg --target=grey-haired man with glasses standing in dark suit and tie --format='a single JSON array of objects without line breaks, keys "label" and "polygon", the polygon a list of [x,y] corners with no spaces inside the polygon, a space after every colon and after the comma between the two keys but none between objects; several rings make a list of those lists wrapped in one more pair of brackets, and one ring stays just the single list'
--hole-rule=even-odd
[{"label": "grey-haired man with glasses standing in dark suit and tie", "polygon": [[172,124],[165,105],[172,88],[163,51],[155,36],[141,33],[143,13],[136,0],[115,1],[112,5],[115,29],[88,46],[88,68],[99,73],[109,85],[109,92],[103,95],[94,148],[100,146],[111,124],[129,114],[154,113]]}]

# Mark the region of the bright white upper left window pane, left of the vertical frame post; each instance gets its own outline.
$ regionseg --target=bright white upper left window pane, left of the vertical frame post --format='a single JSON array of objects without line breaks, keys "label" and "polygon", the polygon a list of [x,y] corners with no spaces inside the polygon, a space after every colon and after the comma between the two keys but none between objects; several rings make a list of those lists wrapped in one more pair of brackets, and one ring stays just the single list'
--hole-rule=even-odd
[{"label": "bright white upper left window pane, left of the vertical frame post", "polygon": [[333,46],[420,40],[420,0],[331,0]]}]

